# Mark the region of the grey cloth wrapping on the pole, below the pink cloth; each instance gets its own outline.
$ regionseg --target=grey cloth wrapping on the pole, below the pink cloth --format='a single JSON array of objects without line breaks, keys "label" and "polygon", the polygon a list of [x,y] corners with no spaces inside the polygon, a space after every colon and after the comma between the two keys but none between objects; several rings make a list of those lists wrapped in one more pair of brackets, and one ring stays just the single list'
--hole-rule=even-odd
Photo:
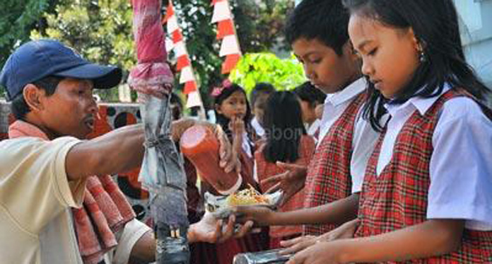
[{"label": "grey cloth wrapping on the pole, below the pink cloth", "polygon": [[151,96],[141,105],[146,153],[142,183],[151,193],[151,215],[158,238],[157,263],[189,263],[186,178],[182,157],[170,137],[169,97]]}]

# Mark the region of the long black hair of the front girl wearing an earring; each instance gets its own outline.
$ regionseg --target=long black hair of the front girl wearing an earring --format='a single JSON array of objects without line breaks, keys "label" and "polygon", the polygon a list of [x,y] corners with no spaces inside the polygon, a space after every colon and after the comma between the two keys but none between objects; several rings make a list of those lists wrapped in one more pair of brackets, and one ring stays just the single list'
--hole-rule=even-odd
[{"label": "long black hair of the front girl wearing an earring", "polygon": [[[452,0],[344,0],[344,5],[351,13],[373,18],[388,27],[412,28],[423,47],[425,60],[390,103],[404,103],[416,96],[438,96],[446,83],[464,88],[478,100],[484,100],[490,92],[466,62]],[[376,130],[381,130],[380,120],[386,112],[383,105],[388,101],[368,83],[368,103],[363,115]]]}]

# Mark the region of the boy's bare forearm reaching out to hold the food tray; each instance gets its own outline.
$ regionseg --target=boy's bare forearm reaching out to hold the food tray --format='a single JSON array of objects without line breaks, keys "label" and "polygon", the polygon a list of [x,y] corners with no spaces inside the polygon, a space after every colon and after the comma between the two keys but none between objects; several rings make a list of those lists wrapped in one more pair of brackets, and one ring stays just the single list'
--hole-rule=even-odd
[{"label": "boy's bare forearm reaching out to hold the food tray", "polygon": [[252,220],[259,225],[343,224],[355,219],[358,212],[358,193],[319,207],[291,212],[274,212],[266,207],[238,207],[241,221]]}]

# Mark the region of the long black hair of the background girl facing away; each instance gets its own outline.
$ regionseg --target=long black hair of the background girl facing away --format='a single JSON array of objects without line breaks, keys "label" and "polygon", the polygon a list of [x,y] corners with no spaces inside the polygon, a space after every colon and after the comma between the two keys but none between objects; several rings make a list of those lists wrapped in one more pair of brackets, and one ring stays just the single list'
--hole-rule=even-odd
[{"label": "long black hair of the background girl facing away", "polygon": [[278,91],[268,98],[264,114],[266,161],[295,162],[299,159],[300,138],[306,134],[300,103],[294,93]]}]

